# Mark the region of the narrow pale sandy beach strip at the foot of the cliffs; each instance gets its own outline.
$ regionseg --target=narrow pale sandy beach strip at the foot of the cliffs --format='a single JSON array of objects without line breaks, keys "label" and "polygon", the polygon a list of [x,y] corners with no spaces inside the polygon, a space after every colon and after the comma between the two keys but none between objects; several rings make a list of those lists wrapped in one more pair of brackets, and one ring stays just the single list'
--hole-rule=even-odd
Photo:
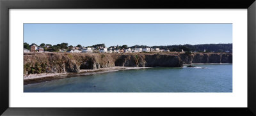
[{"label": "narrow pale sandy beach strip at the foot of the cliffs", "polygon": [[31,74],[24,75],[24,85],[29,83],[38,83],[45,82],[50,80],[57,80],[61,78],[70,78],[72,76],[86,76],[93,75],[98,73],[108,73],[111,71],[120,71],[125,69],[142,69],[142,68],[151,68],[151,67],[124,67],[124,66],[115,66],[112,68],[100,68],[100,69],[81,69],[79,73],[40,73],[40,74]]}]

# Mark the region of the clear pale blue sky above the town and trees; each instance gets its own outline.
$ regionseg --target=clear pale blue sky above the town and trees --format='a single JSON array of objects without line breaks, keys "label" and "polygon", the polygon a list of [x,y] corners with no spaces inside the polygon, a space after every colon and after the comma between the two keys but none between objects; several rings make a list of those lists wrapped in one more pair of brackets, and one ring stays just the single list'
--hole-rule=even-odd
[{"label": "clear pale blue sky above the town and trees", "polygon": [[24,24],[24,42],[83,47],[232,43],[232,24]]}]

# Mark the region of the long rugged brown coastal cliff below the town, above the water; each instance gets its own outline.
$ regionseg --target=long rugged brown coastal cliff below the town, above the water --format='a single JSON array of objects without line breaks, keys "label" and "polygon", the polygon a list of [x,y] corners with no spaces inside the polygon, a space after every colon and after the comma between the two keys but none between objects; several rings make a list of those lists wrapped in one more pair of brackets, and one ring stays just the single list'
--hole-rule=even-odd
[{"label": "long rugged brown coastal cliff below the town, above the water", "polygon": [[31,73],[79,73],[81,69],[115,66],[181,67],[189,63],[232,63],[232,54],[71,54],[24,53],[24,75]]}]

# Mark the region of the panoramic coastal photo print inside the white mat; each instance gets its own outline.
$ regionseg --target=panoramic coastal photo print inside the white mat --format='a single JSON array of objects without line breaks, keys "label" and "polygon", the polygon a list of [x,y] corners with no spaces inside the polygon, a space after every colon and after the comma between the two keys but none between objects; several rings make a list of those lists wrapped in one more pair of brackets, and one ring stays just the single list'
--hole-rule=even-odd
[{"label": "panoramic coastal photo print inside the white mat", "polygon": [[232,24],[24,24],[24,92],[232,92]]}]

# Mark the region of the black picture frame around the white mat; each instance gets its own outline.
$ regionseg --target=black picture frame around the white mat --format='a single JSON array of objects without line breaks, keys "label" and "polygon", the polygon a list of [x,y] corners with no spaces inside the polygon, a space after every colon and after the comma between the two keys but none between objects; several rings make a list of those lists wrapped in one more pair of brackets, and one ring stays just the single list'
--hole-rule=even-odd
[{"label": "black picture frame around the white mat", "polygon": [[[15,8],[244,8],[248,10],[247,108],[10,108],[9,9]],[[255,0],[0,0],[0,114],[3,115],[256,115]],[[20,99],[22,100],[22,99]],[[63,101],[65,102],[65,101]]]}]

